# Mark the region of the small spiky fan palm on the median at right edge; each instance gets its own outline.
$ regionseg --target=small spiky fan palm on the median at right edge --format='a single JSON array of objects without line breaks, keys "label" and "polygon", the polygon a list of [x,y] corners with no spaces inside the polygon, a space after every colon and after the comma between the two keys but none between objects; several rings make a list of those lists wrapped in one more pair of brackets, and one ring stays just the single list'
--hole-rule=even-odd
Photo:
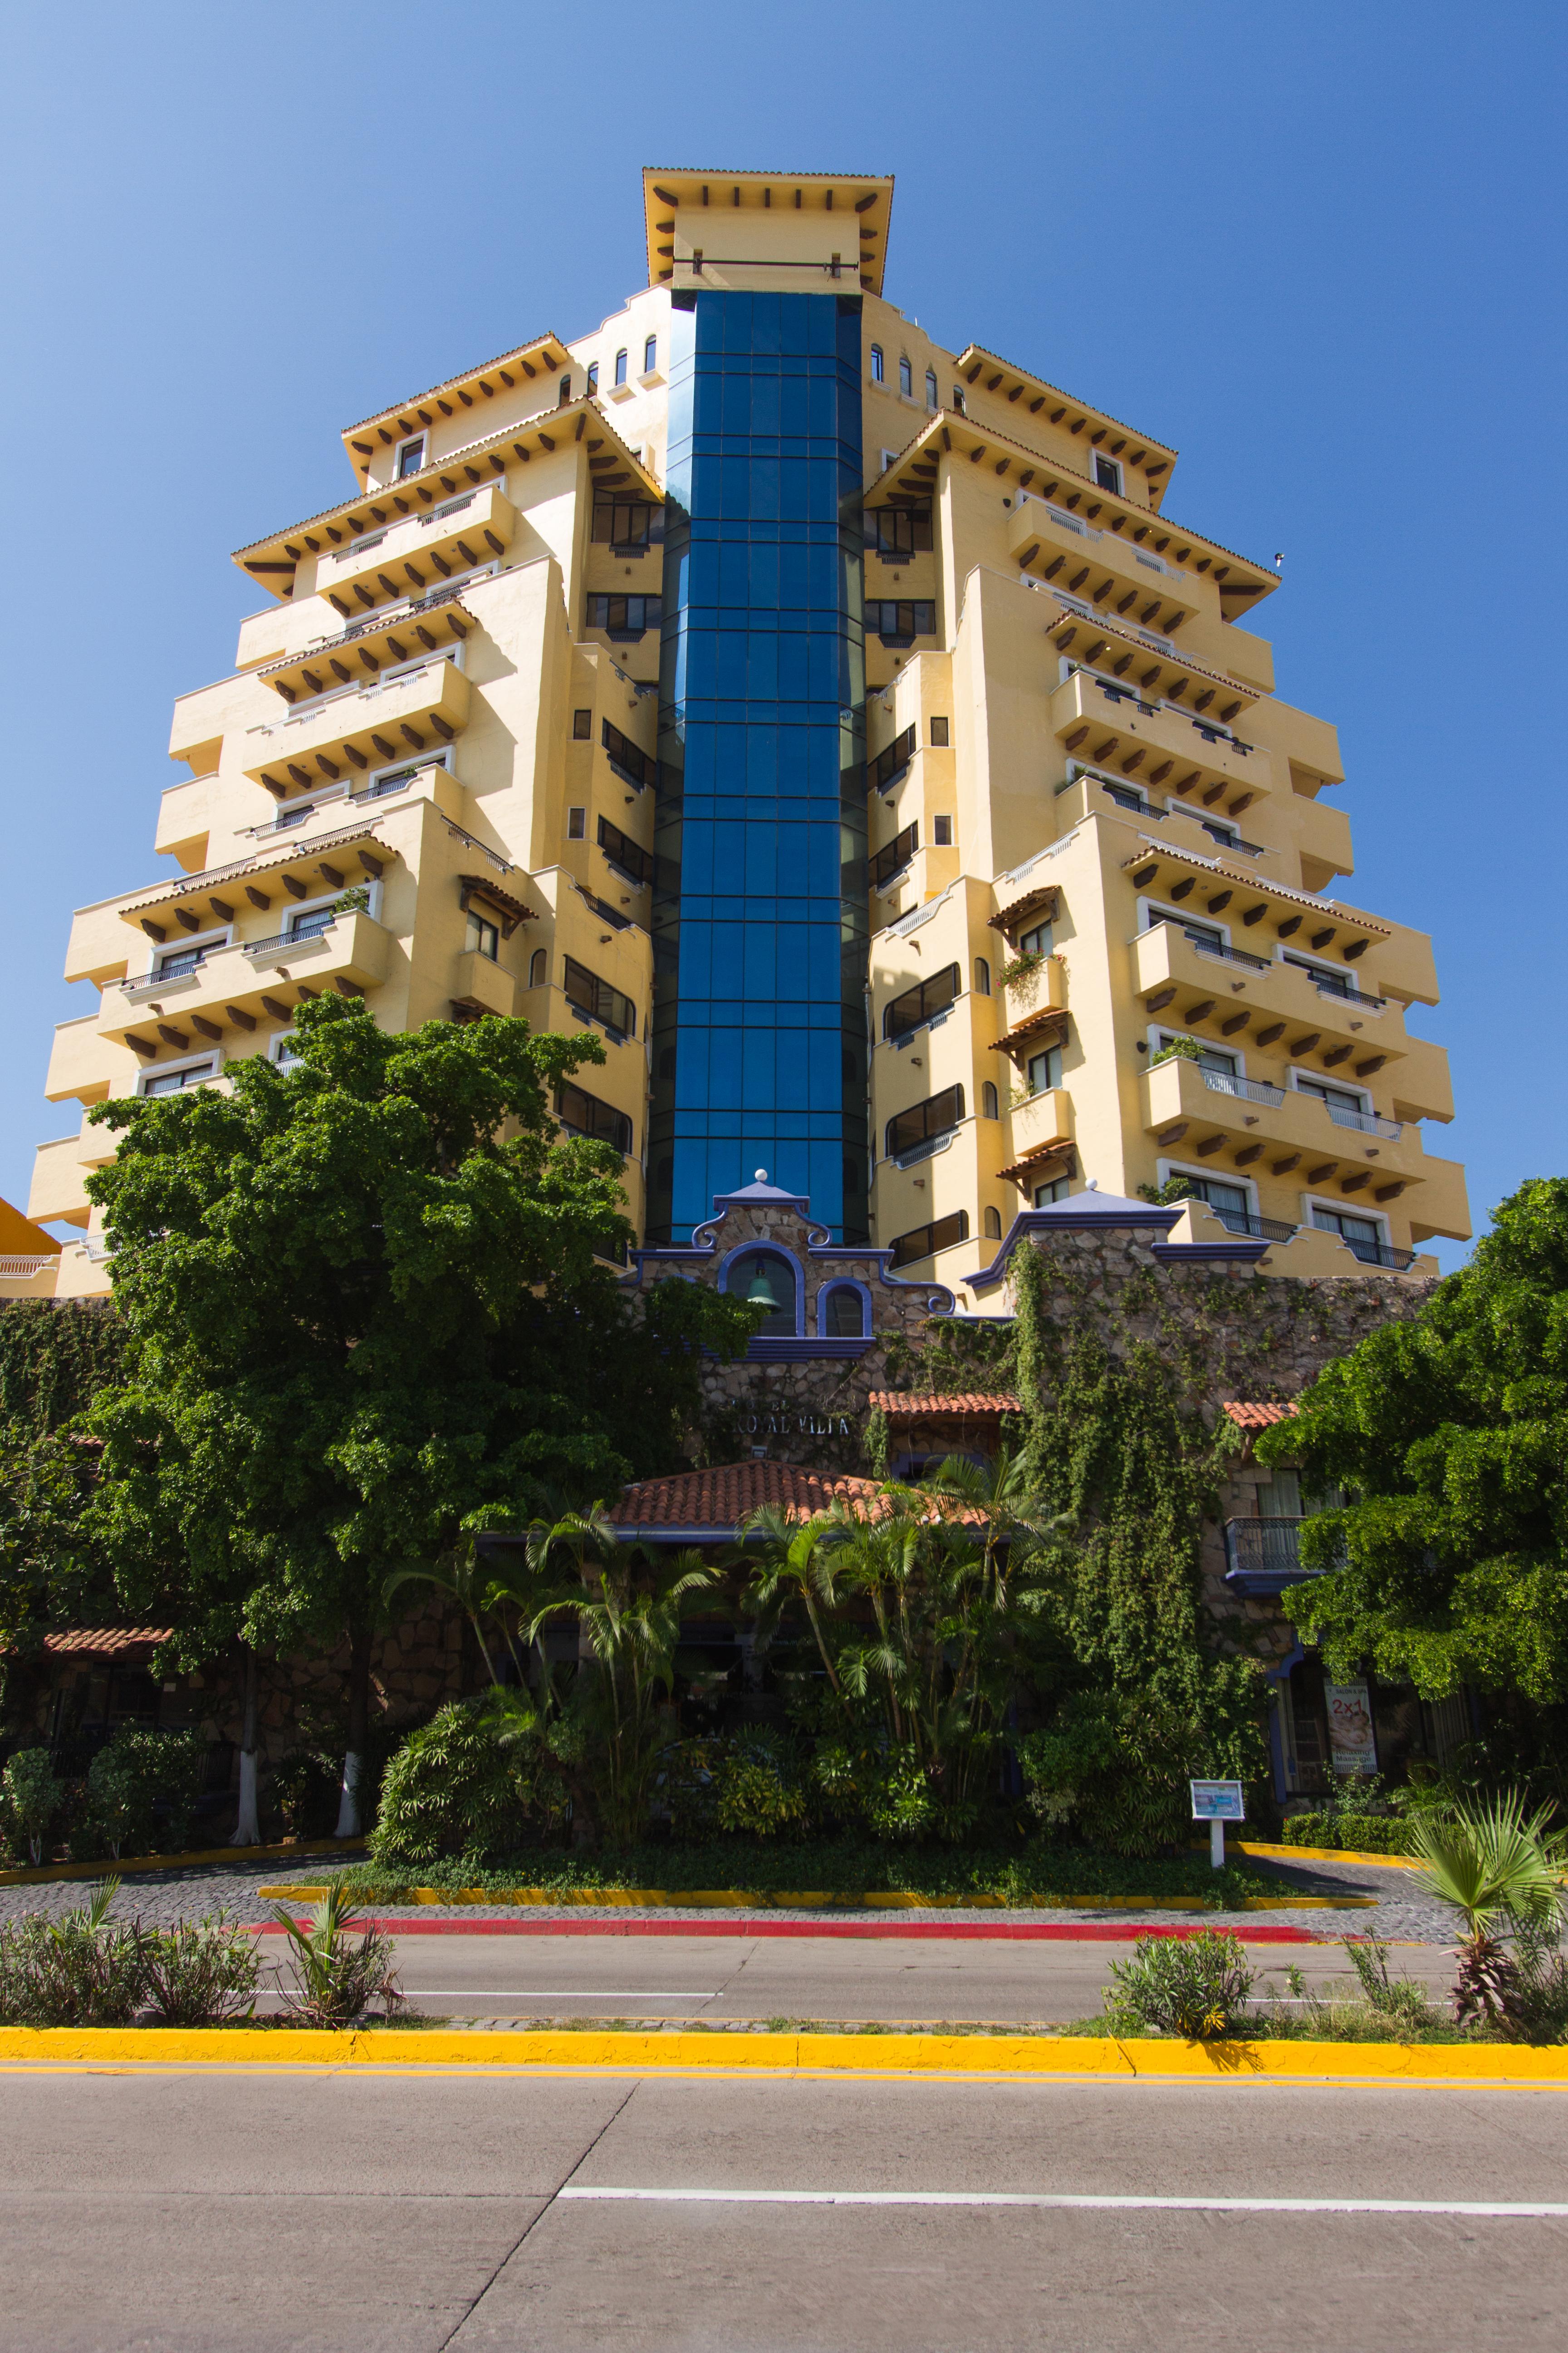
[{"label": "small spiky fan palm on the median at right edge", "polygon": [[1460,2026],[1486,2019],[1512,2031],[1519,1972],[1497,1932],[1549,1929],[1561,1918],[1563,1833],[1547,1831],[1549,1817],[1552,1807],[1526,1817],[1521,1791],[1507,1791],[1490,1805],[1415,1821],[1410,1849],[1427,1866],[1425,1887],[1465,1920],[1453,1984]]}]

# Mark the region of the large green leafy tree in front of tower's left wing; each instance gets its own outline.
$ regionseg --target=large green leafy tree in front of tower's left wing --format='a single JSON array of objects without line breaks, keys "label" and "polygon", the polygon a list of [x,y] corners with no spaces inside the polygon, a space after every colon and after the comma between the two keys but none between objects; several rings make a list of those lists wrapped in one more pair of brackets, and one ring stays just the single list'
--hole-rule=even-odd
[{"label": "large green leafy tree in front of tower's left wing", "polygon": [[87,1188],[132,1348],[94,1409],[96,1529],[129,1607],[174,1598],[190,1664],[348,1640],[341,1835],[388,1577],[543,1480],[621,1482],[637,1381],[665,1367],[642,1395],[642,1445],[665,1445],[696,1341],[755,1320],[712,1294],[628,1308],[604,1266],[632,1240],[621,1155],[550,1118],[602,1059],[592,1035],[395,1035],[317,998],[289,1071],[249,1056],[228,1089],[92,1113],[120,1132]]}]

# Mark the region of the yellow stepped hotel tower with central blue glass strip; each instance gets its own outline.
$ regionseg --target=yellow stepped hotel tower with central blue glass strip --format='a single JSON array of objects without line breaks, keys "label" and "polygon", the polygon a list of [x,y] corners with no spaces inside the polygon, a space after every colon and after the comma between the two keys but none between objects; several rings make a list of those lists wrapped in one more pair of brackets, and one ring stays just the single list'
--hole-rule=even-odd
[{"label": "yellow stepped hotel tower with central blue glass strip", "polygon": [[[971,1313],[1086,1186],[1187,1179],[1175,1238],[1265,1273],[1469,1233],[1429,941],[1335,889],[1276,572],[1168,513],[1168,445],[884,301],[891,198],[646,172],[602,327],[343,433],[348,496],[235,553],[162,873],[73,920],[52,1101],[287,1061],[336,991],[597,1028],[557,1113],[649,1240],[766,1167]],[[108,1285],[110,1141],[38,1153],[61,1294]]]}]

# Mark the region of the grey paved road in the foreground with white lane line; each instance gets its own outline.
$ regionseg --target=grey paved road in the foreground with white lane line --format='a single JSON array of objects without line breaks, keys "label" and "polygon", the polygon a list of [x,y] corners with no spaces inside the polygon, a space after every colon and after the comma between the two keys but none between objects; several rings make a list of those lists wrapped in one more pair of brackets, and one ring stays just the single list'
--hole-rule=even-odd
[{"label": "grey paved road in the foreground with white lane line", "polygon": [[1561,2092],[82,2068],[0,2118],[0,2353],[1530,2353],[1568,2308],[1561,2217],[1272,2205],[1561,2202]]}]

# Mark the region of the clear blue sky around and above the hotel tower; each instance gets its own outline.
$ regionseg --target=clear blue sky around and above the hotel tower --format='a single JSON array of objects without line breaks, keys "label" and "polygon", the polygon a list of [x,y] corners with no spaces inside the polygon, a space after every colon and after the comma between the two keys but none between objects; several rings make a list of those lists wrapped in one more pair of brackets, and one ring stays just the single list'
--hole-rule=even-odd
[{"label": "clear blue sky around and above the hotel tower", "polygon": [[[12,741],[0,1193],[73,906],[153,880],[228,551],[339,428],[642,285],[639,167],[896,172],[886,292],[1180,447],[1171,511],[1286,586],[1356,873],[1436,936],[1472,1207],[1561,1172],[1563,49],[1556,5],[790,9],[103,0],[7,21]],[[1556,1009],[1556,1012],[1554,1012]],[[1462,1252],[1443,1249],[1446,1264]]]}]

